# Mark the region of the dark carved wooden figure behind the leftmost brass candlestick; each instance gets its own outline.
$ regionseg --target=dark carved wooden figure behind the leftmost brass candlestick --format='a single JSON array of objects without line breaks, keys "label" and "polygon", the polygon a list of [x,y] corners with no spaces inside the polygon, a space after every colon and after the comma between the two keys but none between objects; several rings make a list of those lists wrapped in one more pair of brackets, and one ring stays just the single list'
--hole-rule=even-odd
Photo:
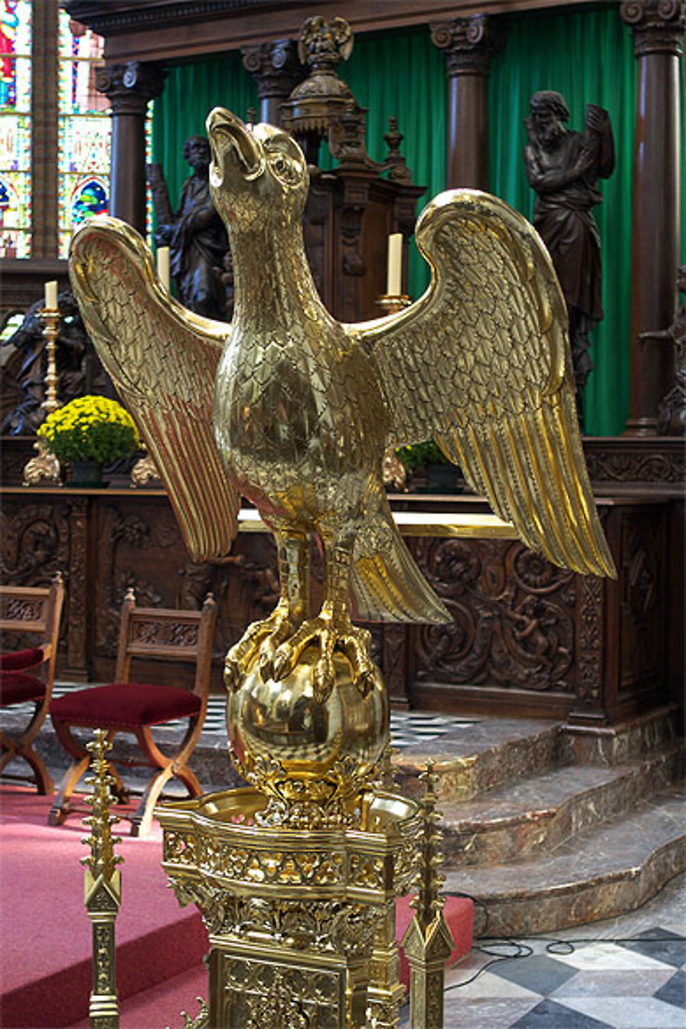
[{"label": "dark carved wooden figure behind the leftmost brass candlestick", "polygon": [[[4,346],[13,347],[3,365],[2,422],[6,435],[31,435],[44,418],[45,344],[41,312],[45,301],[32,304],[24,321]],[[58,296],[61,319],[57,338],[58,397],[67,403],[86,393],[104,393],[107,377],[93,348],[69,289]]]}]

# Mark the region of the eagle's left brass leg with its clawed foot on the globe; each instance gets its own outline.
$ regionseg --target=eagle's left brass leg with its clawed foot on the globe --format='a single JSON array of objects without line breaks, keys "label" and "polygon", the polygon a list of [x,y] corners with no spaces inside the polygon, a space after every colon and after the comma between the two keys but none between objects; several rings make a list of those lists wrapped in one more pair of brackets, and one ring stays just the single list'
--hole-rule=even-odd
[{"label": "eagle's left brass leg with its clawed foot on the globe", "polygon": [[272,676],[277,647],[296,632],[310,610],[310,538],[293,529],[275,529],[275,536],[281,598],[272,614],[253,622],[226,654],[224,681],[229,688],[240,685],[257,657],[262,676]]}]

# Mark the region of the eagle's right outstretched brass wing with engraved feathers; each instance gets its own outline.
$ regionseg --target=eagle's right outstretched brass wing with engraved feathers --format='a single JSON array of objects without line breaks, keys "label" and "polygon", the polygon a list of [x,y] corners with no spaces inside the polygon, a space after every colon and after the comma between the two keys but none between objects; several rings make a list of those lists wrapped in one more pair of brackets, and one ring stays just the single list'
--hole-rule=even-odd
[{"label": "eagle's right outstretched brass wing with engraved feathers", "polygon": [[417,243],[432,269],[406,311],[347,326],[384,383],[389,445],[433,436],[533,549],[615,575],[581,448],[565,300],[532,225],[503,201],[448,190]]}]

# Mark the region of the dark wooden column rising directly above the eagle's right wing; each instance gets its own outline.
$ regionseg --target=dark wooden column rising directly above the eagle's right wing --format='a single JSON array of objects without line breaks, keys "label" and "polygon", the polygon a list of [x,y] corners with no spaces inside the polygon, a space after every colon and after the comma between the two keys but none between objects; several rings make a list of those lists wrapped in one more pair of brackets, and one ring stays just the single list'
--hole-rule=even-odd
[{"label": "dark wooden column rising directly above the eagle's right wing", "polygon": [[502,23],[488,14],[431,26],[445,55],[448,81],[445,185],[489,188],[489,71],[504,42]]}]

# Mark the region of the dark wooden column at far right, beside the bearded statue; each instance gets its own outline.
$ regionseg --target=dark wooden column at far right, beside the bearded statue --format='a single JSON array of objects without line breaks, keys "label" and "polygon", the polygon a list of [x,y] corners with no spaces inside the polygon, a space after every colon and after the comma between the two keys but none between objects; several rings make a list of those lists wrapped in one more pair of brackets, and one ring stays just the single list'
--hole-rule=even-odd
[{"label": "dark wooden column at far right, beside the bearded statue", "polygon": [[677,300],[680,224],[679,59],[686,4],[631,0],[621,4],[638,60],[631,236],[631,393],[626,431],[655,432],[657,405],[672,382],[674,355],[642,332],[672,324]]}]

